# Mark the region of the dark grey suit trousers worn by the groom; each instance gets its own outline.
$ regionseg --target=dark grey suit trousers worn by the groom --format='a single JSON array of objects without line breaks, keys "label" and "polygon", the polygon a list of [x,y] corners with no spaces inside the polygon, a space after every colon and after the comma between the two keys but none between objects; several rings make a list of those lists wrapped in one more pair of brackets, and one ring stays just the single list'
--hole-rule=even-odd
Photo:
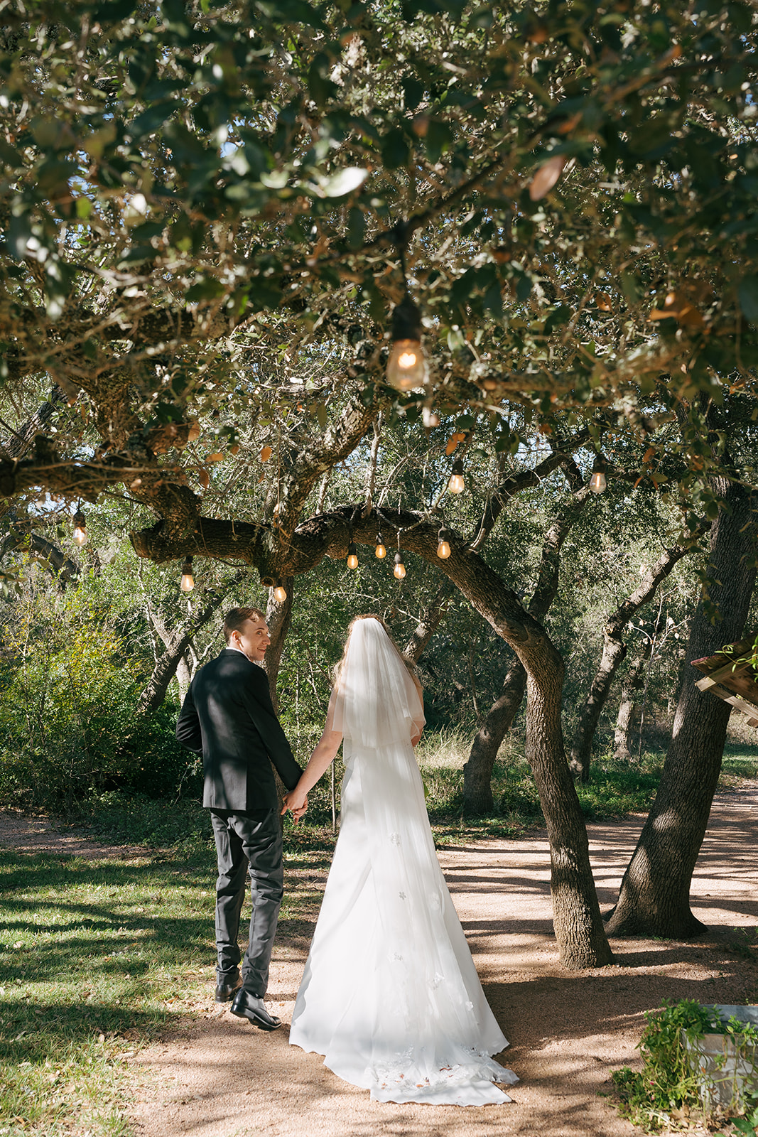
[{"label": "dark grey suit trousers worn by the groom", "polygon": [[[284,893],[282,825],[274,810],[267,813],[232,813],[211,810],[218,855],[216,881],[216,951],[218,982],[230,984],[242,974],[242,986],[263,998]],[[252,913],[250,936],[240,968],[240,913],[250,873]]]}]

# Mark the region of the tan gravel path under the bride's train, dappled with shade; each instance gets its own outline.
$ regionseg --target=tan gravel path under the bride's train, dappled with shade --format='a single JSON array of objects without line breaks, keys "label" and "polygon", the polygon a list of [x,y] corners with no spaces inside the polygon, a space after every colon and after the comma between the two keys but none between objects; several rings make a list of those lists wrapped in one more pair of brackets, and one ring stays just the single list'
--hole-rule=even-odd
[{"label": "tan gravel path under the bride's train, dappled with shade", "polygon": [[[603,907],[615,899],[641,824],[632,818],[590,827]],[[639,1131],[605,1095],[610,1072],[635,1064],[642,1012],[664,998],[758,1003],[758,962],[745,958],[733,931],[758,923],[757,838],[758,789],[719,795],[692,888],[693,910],[710,931],[689,944],[615,940],[613,966],[573,973],[559,966],[550,933],[544,833],[440,853],[488,998],[511,1043],[502,1061],[522,1079],[509,1089],[511,1105],[372,1103],[318,1055],[290,1047],[286,1027],[265,1035],[217,1007],[209,985],[202,1016],[134,1060],[142,1076],[135,1128],[145,1137],[630,1137]],[[313,874],[291,887],[313,888]],[[288,937],[286,923],[282,930],[269,996],[289,1021],[307,937],[302,924],[297,936]]]}]

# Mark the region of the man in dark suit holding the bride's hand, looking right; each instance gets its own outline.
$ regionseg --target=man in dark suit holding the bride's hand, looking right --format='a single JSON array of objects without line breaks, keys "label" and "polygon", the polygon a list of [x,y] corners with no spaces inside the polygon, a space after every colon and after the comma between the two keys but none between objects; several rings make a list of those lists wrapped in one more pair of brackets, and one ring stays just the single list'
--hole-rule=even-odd
[{"label": "man in dark suit holding the bride's hand, looking right", "polygon": [[[232,608],[224,617],[224,639],[225,650],[192,680],[176,738],[202,753],[202,804],[210,810],[216,838],[216,1002],[233,999],[232,1014],[276,1030],[281,1021],[264,1005],[284,890],[272,763],[290,790],[302,771],[274,713],[266,672],[258,666],[270,642],[265,614]],[[248,872],[252,914],[240,976],[236,938]]]}]

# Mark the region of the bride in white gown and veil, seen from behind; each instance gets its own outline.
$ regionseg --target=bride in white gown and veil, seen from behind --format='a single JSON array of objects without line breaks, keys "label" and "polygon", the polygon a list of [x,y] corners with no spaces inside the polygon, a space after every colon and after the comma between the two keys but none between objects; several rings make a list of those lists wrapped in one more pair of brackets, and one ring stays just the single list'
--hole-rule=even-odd
[{"label": "bride in white gown and veil, seen from behind", "polygon": [[344,740],[340,836],[290,1041],[377,1102],[509,1102],[495,1022],[434,852],[413,747],[422,690],[378,616],[350,625],[295,819]]}]

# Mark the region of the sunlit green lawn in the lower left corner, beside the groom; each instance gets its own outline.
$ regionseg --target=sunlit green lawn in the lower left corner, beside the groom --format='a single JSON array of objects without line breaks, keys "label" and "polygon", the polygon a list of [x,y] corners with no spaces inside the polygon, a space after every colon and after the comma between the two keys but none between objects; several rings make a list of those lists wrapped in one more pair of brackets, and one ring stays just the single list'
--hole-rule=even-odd
[{"label": "sunlit green lawn in the lower left corner, beside the groom", "polygon": [[125,1057],[213,966],[195,865],[0,853],[0,1134],[128,1132]]}]

